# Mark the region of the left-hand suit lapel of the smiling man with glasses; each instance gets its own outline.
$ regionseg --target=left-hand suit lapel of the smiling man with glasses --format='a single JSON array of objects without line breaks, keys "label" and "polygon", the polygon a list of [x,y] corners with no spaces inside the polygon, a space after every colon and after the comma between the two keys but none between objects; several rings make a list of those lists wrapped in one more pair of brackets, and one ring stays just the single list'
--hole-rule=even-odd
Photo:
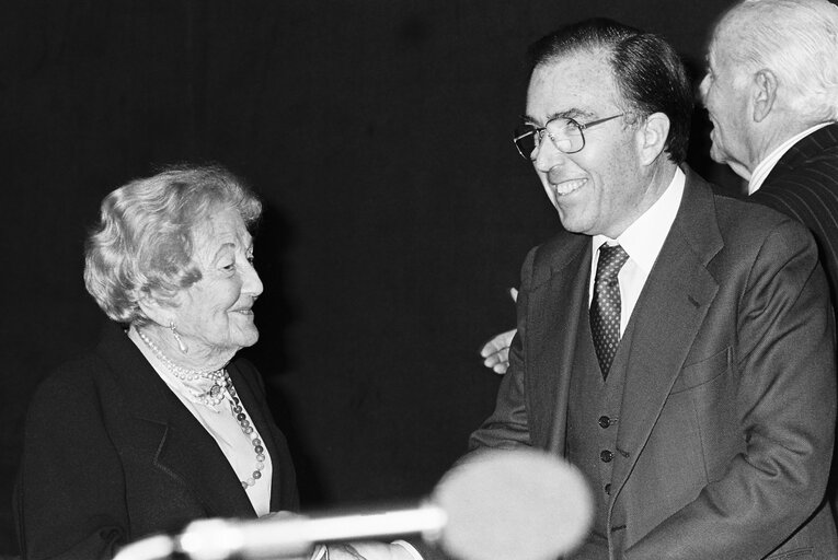
[{"label": "left-hand suit lapel of the smiling man with glasses", "polygon": [[548,418],[549,423],[531,425],[530,433],[535,445],[564,455],[567,392],[579,323],[579,314],[571,310],[587,306],[590,237],[562,234],[539,250],[546,256],[537,258],[549,258],[550,268],[547,278],[533,279],[529,295],[527,396],[533,411],[530,418]]}]

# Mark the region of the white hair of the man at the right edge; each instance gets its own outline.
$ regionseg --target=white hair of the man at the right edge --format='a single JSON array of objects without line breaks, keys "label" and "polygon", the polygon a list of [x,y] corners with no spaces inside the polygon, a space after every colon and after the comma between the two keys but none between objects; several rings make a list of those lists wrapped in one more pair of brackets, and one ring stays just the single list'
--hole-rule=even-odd
[{"label": "white hair of the man at the right edge", "polygon": [[773,72],[780,107],[810,125],[838,119],[838,5],[744,0],[724,15],[720,34],[742,78],[762,69]]}]

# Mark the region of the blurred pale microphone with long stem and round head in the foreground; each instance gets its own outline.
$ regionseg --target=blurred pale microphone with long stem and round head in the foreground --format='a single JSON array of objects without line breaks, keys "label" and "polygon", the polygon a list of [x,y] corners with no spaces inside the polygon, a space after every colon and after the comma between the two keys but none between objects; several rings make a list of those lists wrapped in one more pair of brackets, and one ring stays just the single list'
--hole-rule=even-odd
[{"label": "blurred pale microphone with long stem and round head in the foreground", "polygon": [[582,475],[531,448],[486,451],[457,465],[416,508],[343,515],[199,520],[180,535],[153,536],[115,560],[193,560],[306,556],[317,544],[410,534],[459,560],[553,560],[573,550],[593,518]]}]

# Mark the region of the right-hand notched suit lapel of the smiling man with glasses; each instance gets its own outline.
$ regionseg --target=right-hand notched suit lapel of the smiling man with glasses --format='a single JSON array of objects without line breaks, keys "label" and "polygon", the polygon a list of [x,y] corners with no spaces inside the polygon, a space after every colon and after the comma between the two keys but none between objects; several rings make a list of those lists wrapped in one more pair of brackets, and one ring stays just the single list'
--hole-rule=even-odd
[{"label": "right-hand notched suit lapel of the smiling man with glasses", "polygon": [[618,450],[629,455],[615,464],[612,480],[618,491],[652,432],[718,291],[707,269],[723,246],[712,191],[700,177],[687,173],[675,222],[631,317],[634,334],[617,436]]}]

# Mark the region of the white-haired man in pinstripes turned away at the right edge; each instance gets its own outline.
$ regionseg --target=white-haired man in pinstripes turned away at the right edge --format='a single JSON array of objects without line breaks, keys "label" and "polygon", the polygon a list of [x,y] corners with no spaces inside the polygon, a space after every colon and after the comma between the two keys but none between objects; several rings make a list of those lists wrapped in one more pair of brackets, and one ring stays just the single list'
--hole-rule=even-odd
[{"label": "white-haired man in pinstripes turned away at the right edge", "polygon": [[701,96],[710,155],[812,230],[838,301],[838,5],[736,4],[713,30]]}]

